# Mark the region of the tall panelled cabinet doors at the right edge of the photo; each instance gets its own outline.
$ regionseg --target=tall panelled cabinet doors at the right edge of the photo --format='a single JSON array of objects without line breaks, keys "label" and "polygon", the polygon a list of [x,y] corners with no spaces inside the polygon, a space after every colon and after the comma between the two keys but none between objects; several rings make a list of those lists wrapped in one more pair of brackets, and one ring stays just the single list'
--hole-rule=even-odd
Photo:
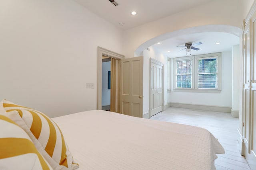
[{"label": "tall panelled cabinet doors at the right edge of the photo", "polygon": [[243,137],[242,150],[252,169],[256,169],[256,12],[244,28]]}]

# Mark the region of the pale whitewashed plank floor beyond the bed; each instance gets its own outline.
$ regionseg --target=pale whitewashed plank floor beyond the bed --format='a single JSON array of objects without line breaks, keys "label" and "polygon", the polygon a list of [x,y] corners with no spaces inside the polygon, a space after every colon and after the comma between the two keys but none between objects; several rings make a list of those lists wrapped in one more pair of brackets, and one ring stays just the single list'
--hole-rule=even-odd
[{"label": "pale whitewashed plank floor beyond the bed", "polygon": [[232,117],[230,113],[169,107],[151,119],[207,129],[218,139],[226,152],[218,154],[215,160],[217,170],[250,170],[246,159],[239,152],[237,142],[239,119]]}]

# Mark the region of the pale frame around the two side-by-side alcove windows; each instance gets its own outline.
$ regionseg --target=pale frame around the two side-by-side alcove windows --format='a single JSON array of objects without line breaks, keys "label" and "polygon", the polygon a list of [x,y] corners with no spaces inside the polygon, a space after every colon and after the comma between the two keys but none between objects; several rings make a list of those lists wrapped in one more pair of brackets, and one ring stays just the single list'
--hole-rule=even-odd
[{"label": "pale frame around the two side-by-side alcove windows", "polygon": [[[217,89],[198,89],[198,60],[200,59],[217,58]],[[192,60],[192,84],[191,88],[176,88],[176,62]],[[173,58],[173,90],[174,92],[206,92],[206,93],[220,93],[221,91],[221,53],[210,53],[204,55],[194,55],[188,57]]]}]

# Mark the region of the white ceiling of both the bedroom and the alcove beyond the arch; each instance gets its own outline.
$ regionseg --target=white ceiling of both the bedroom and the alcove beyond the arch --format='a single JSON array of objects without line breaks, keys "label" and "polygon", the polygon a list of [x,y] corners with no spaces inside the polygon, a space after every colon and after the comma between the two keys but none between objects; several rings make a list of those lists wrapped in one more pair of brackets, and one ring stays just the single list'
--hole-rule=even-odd
[{"label": "white ceiling of both the bedroom and the alcove beyond the arch", "polygon": [[[109,0],[74,1],[116,25],[116,27],[125,30],[215,0],[115,0],[118,6],[114,6]],[[132,11],[136,11],[137,14],[134,16],[131,15]],[[124,25],[120,25],[119,23],[124,23]],[[200,55],[230,51],[233,45],[239,44],[239,38],[235,35],[221,32],[193,33],[166,39],[162,41],[161,44],[153,45],[153,47],[165,53],[168,57],[182,57],[190,55],[190,53],[186,54],[185,49],[180,51],[182,47],[176,46],[184,45],[188,42],[192,44],[202,42],[201,45],[196,46],[196,48],[200,48],[200,50],[191,51],[191,55]],[[217,42],[220,44],[216,45]]]}]

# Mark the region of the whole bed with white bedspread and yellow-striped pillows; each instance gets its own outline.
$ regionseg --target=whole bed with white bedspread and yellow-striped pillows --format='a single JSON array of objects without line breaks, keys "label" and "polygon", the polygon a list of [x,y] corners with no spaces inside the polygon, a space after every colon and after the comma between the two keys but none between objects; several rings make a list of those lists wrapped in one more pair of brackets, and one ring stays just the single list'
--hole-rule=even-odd
[{"label": "whole bed with white bedspread and yellow-striped pillows", "polygon": [[206,129],[102,110],[51,119],[2,100],[0,128],[6,170],[215,170],[224,154]]}]

